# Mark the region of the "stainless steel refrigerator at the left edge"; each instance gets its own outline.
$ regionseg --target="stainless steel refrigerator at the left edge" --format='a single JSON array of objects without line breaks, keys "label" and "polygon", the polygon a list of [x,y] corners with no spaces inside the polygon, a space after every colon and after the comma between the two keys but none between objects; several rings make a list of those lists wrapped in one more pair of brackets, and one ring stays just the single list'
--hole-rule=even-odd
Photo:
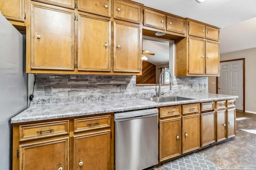
[{"label": "stainless steel refrigerator at the left edge", "polygon": [[0,170],[12,168],[10,119],[27,107],[25,43],[0,12]]}]

